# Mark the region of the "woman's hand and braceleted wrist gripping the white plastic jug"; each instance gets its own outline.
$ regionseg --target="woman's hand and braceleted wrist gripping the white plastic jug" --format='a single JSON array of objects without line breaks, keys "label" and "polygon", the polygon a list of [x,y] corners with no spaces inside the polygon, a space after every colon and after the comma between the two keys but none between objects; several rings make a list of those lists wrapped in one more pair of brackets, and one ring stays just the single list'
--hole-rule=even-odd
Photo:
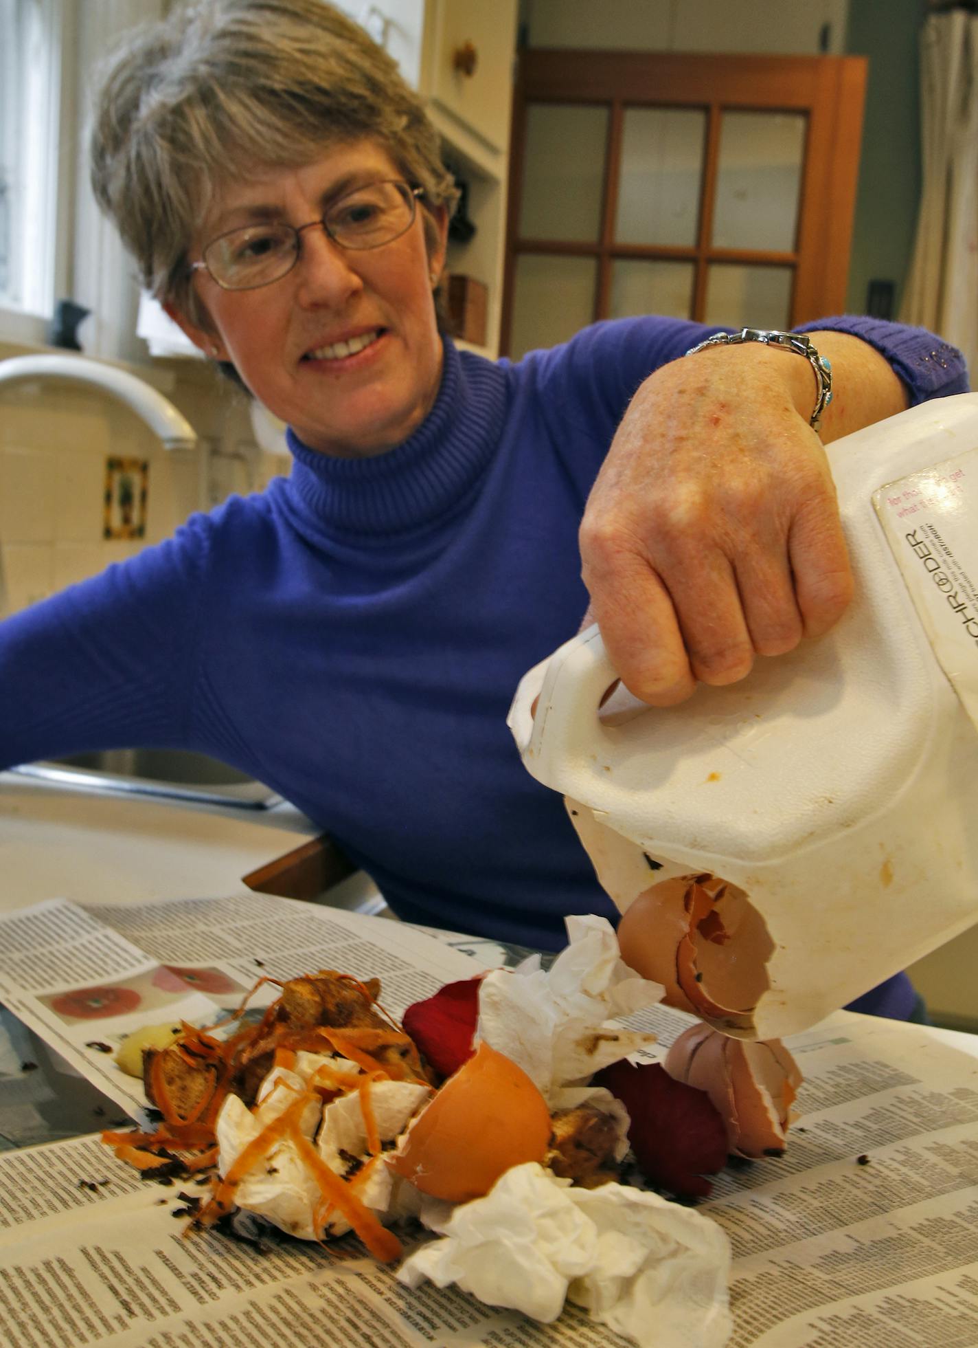
[{"label": "woman's hand and braceleted wrist gripping the white plastic jug", "polygon": [[[857,337],[812,333],[833,363],[833,439],[907,406]],[[644,701],[731,683],[754,655],[819,636],[853,593],[835,488],[808,426],[815,376],[799,356],[717,346],[656,371],[612,442],[581,526],[589,615]]]}]

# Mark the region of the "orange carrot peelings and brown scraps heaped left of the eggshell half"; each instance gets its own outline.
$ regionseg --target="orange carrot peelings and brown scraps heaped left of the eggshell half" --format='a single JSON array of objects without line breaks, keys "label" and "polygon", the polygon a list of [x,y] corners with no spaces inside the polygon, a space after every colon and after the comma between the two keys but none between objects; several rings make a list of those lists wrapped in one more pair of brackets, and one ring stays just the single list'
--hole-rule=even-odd
[{"label": "orange carrot peelings and brown scraps heaped left of the eggshell half", "polygon": [[[256,988],[269,979],[259,980]],[[164,1049],[143,1054],[147,1099],[162,1115],[154,1132],[105,1132],[120,1159],[148,1174],[197,1171],[220,1165],[210,1200],[195,1216],[210,1225],[234,1208],[261,1211],[249,1202],[261,1178],[282,1174],[282,1162],[294,1153],[315,1177],[318,1192],[313,1221],[282,1224],[292,1235],[339,1233],[353,1228],[368,1250],[389,1260],[400,1242],[387,1232],[362,1190],[391,1132],[392,1104],[403,1105],[399,1123],[434,1093],[436,1077],[426,1068],[411,1038],[380,1007],[380,981],[361,983],[350,975],[322,971],[282,984],[282,996],[260,1022],[242,1024],[220,1037],[225,1026],[198,1030],[182,1024]],[[244,1007],[232,1022],[241,1019]],[[339,1116],[356,1105],[365,1154],[337,1146],[334,1170],[322,1153],[334,1132],[321,1128],[330,1107]],[[397,1111],[395,1109],[395,1113]],[[379,1116],[384,1127],[379,1126]],[[234,1132],[249,1134],[234,1146]],[[349,1131],[349,1130],[348,1130]],[[356,1130],[354,1130],[356,1131]],[[400,1132],[400,1127],[396,1128]],[[387,1136],[383,1136],[387,1132]],[[313,1138],[319,1134],[319,1147]],[[341,1140],[350,1138],[341,1128]],[[228,1162],[229,1151],[234,1157]],[[290,1157],[291,1159],[291,1157]],[[318,1219],[318,1221],[317,1221]],[[273,1220],[273,1219],[272,1219]]]}]

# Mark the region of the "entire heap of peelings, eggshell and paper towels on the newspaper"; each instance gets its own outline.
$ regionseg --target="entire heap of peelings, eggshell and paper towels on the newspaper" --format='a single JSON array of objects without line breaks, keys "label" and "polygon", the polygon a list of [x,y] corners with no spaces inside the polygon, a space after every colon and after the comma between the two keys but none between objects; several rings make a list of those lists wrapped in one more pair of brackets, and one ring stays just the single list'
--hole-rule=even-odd
[{"label": "entire heap of peelings, eggshell and paper towels on the newspaper", "polygon": [[[665,1295],[663,1266],[674,1260],[680,1295],[695,1266],[715,1283],[702,1341],[722,1344],[726,1237],[620,1181],[637,1178],[637,1165],[660,1189],[709,1193],[705,1175],[726,1162],[731,1139],[749,1146],[748,1130],[723,1117],[722,1089],[626,1061],[653,1037],[620,1018],[663,988],[621,961],[604,919],[567,922],[571,944],[550,971],[528,961],[449,984],[410,1007],[403,1026],[383,1010],[379,980],[335,971],[280,984],[257,1023],[244,1023],[242,1007],[207,1030],[182,1024],[171,1043],[143,1051],[159,1127],[104,1140],[148,1177],[214,1171],[193,1225],[244,1211],[307,1240],[352,1229],[391,1262],[403,1254],[391,1227],[420,1223],[442,1239],[408,1256],[401,1281],[457,1282],[540,1320],[568,1295],[634,1337],[628,1289],[656,1264]],[[765,1120],[787,1120],[793,1085],[756,1084]],[[744,1100],[741,1082],[741,1112]],[[769,1140],[754,1154],[771,1154]],[[608,1229],[620,1240],[602,1242]],[[629,1242],[624,1275],[613,1264]],[[540,1273],[527,1278],[535,1260]]]}]

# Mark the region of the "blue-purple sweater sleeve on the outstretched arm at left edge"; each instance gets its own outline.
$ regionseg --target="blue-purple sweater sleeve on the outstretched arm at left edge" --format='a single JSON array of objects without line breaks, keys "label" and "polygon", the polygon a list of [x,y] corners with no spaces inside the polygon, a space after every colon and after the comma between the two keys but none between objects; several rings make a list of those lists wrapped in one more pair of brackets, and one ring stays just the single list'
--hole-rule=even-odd
[{"label": "blue-purple sweater sleeve on the outstretched arm at left edge", "polygon": [[0,767],[84,749],[186,744],[205,528],[0,621]]}]

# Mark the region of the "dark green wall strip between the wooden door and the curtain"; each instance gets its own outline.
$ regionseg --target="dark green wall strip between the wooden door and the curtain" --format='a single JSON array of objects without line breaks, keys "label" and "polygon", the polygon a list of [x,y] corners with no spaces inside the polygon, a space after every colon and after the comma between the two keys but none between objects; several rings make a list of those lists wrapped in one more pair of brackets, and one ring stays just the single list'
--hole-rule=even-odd
[{"label": "dark green wall strip between the wooden door and the curtain", "polygon": [[869,57],[849,309],[862,313],[874,278],[896,282],[893,315],[913,251],[920,201],[919,34],[927,0],[853,0],[846,53]]}]

